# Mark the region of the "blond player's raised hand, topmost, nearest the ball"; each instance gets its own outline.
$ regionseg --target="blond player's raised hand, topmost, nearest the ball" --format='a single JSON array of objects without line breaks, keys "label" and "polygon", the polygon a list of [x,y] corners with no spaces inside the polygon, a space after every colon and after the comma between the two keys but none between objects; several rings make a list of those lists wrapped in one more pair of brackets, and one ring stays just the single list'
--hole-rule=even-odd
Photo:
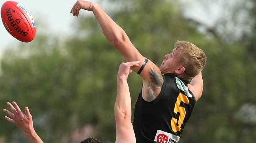
[{"label": "blond player's raised hand, topmost, nearest the ball", "polygon": [[74,6],[72,7],[70,13],[73,14],[73,16],[78,16],[80,9],[93,11],[94,6],[97,5],[95,2],[88,2],[85,0],[78,0]]}]

